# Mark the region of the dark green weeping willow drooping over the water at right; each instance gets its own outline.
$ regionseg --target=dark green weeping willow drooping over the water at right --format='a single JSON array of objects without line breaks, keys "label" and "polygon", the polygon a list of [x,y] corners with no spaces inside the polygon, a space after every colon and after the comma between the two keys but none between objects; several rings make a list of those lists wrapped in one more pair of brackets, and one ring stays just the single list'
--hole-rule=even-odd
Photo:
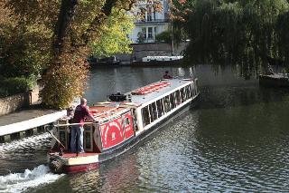
[{"label": "dark green weeping willow drooping over the water at right", "polygon": [[186,10],[182,27],[191,39],[186,53],[196,63],[252,67],[283,57],[278,43],[286,34],[281,30],[286,17],[279,17],[289,10],[286,0],[188,0],[177,8]]}]

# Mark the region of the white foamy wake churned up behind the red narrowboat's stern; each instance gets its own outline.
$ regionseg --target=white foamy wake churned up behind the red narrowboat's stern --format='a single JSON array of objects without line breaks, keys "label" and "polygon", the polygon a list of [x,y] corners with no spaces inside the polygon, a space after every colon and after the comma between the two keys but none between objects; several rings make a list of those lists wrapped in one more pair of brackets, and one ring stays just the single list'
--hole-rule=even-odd
[{"label": "white foamy wake churned up behind the red narrowboat's stern", "polygon": [[62,175],[52,174],[47,166],[40,165],[33,170],[25,169],[23,173],[11,173],[0,176],[0,192],[22,192],[45,183],[60,179]]}]

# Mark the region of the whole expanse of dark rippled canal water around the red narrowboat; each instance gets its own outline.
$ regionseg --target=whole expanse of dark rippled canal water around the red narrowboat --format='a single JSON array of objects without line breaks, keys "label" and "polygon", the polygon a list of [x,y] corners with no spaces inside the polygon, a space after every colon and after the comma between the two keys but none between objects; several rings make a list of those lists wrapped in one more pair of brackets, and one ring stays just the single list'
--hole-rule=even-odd
[{"label": "whole expanse of dark rippled canal water around the red narrowboat", "polygon": [[97,171],[51,174],[48,134],[0,145],[0,192],[288,192],[289,91],[235,68],[96,69],[86,97],[104,101],[160,79],[195,76],[198,107]]}]

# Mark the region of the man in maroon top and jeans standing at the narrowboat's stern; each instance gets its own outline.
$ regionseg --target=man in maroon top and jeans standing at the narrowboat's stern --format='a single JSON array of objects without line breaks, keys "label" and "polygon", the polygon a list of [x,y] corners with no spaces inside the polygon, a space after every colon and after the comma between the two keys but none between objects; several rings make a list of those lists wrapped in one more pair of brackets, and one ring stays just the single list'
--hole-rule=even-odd
[{"label": "man in maroon top and jeans standing at the narrowboat's stern", "polygon": [[[80,104],[75,108],[73,118],[71,120],[72,123],[79,123],[72,125],[71,127],[71,140],[70,140],[70,148],[71,152],[78,151],[79,153],[83,153],[83,125],[84,119],[89,117],[93,121],[97,121],[89,112],[89,107],[87,106],[88,101],[84,98],[80,99]],[[78,136],[78,149],[76,150],[76,140]]]}]

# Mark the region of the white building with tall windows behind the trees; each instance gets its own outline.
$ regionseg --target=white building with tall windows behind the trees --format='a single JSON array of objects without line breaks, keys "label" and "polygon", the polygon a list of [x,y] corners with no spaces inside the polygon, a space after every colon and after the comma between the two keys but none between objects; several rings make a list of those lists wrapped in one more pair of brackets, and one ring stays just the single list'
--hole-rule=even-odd
[{"label": "white building with tall windows behind the trees", "polygon": [[155,12],[147,0],[138,1],[136,12],[144,8],[145,14],[143,19],[135,20],[135,28],[128,38],[133,43],[154,43],[155,35],[169,30],[169,7],[167,0],[160,0],[163,5],[161,12]]}]

